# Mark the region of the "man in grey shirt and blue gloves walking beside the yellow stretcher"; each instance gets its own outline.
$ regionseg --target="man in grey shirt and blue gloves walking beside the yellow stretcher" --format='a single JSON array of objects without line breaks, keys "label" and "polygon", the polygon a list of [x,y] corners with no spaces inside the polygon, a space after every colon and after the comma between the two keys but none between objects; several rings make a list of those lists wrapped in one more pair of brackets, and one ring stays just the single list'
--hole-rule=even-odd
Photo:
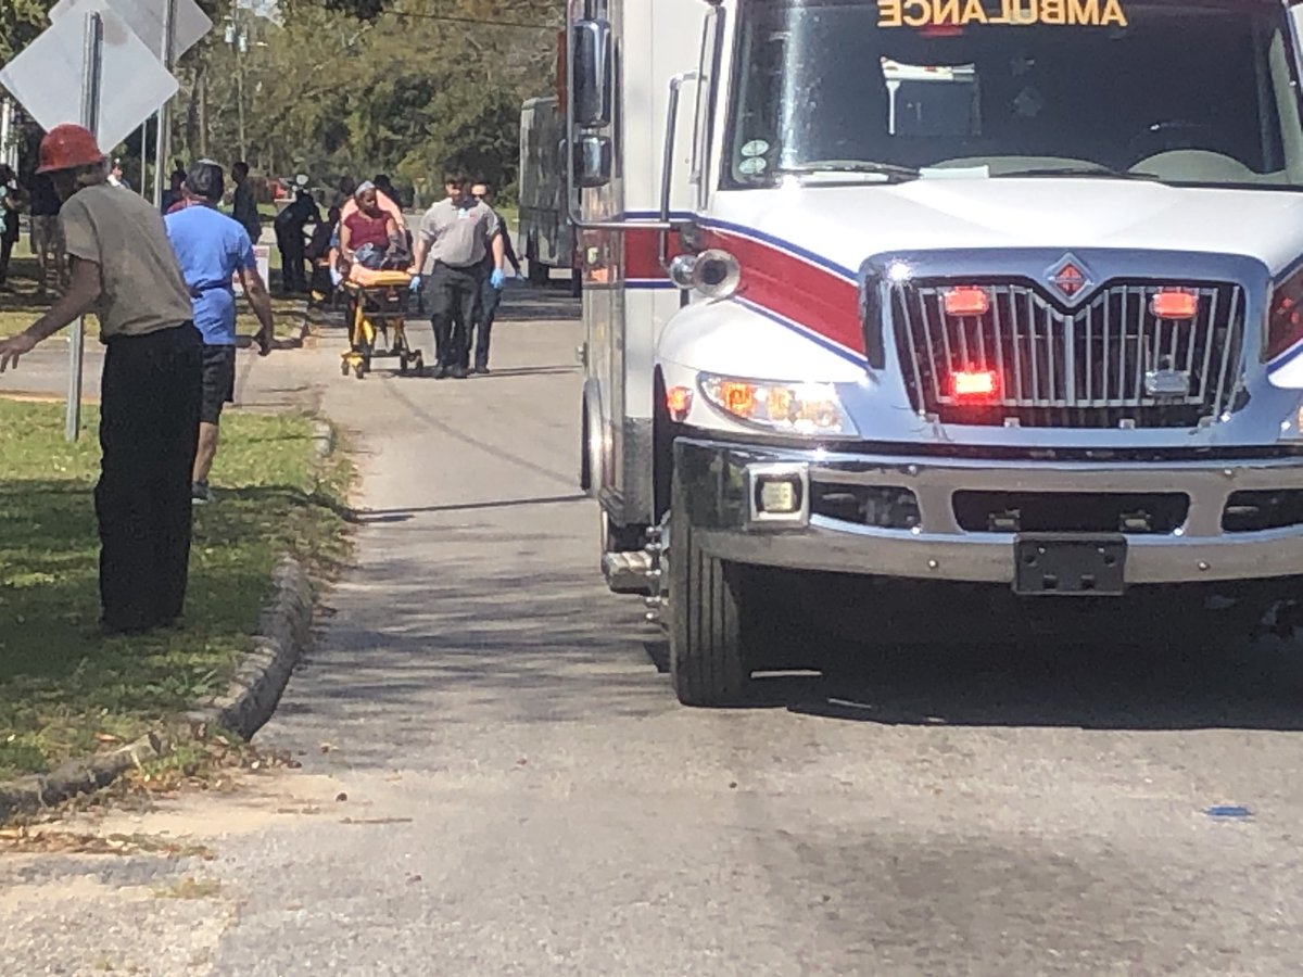
[{"label": "man in grey shirt and blue gloves walking beside the yellow stretcher", "polygon": [[485,279],[485,255],[493,255],[489,275],[502,288],[503,242],[498,215],[472,197],[469,180],[460,171],[443,178],[447,198],[421,219],[416,240],[417,276],[412,287],[426,287],[430,323],[434,326],[435,379],[466,376],[470,324],[476,320]]}]

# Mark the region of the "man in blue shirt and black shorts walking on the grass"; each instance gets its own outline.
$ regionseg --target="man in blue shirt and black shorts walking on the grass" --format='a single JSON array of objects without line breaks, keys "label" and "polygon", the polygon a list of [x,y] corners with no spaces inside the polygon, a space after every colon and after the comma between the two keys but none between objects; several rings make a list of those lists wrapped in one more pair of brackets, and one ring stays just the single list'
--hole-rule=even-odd
[{"label": "man in blue shirt and black shorts walking on the grass", "polygon": [[194,324],[203,335],[203,404],[190,496],[207,503],[212,502],[208,472],[218,453],[222,408],[235,399],[236,388],[235,276],[262,326],[254,337],[262,356],[271,352],[271,296],[258,274],[249,232],[218,210],[225,191],[222,167],[199,160],[186,172],[181,191],[185,206],[164,223],[194,301]]}]

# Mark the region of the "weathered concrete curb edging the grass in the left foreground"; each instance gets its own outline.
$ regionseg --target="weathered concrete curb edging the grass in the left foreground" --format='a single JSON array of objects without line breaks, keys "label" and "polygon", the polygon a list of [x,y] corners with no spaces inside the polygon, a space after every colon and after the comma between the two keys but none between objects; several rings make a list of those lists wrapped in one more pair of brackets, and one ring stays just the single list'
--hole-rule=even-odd
[{"label": "weathered concrete curb edging the grass in the left foreground", "polygon": [[[250,739],[271,718],[294,664],[311,644],[313,588],[302,564],[285,556],[272,574],[275,590],[263,608],[253,650],[240,663],[224,696],[201,702],[185,716],[189,737],[223,728]],[[179,733],[181,739],[186,733]],[[0,823],[31,814],[69,797],[107,787],[132,767],[167,757],[175,741],[159,733],[102,753],[69,761],[50,774],[0,784]]]}]

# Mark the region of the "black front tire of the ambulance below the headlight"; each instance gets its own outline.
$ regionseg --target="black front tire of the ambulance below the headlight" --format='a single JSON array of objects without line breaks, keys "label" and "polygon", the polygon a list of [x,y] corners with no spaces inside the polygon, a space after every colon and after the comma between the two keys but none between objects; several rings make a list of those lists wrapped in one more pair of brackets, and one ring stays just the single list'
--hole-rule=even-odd
[{"label": "black front tire of the ambulance below the headlight", "polygon": [[701,550],[685,503],[676,474],[670,518],[670,680],[685,706],[743,705],[751,668],[741,568]]}]

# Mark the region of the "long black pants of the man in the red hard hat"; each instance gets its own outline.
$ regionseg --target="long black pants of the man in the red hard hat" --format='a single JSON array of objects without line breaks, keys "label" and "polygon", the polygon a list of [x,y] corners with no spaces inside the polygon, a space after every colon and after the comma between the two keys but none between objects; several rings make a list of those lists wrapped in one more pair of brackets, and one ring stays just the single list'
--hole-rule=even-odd
[{"label": "long black pants of the man in the red hard hat", "polygon": [[181,615],[202,356],[192,323],[108,341],[95,486],[106,627],[143,630]]}]

